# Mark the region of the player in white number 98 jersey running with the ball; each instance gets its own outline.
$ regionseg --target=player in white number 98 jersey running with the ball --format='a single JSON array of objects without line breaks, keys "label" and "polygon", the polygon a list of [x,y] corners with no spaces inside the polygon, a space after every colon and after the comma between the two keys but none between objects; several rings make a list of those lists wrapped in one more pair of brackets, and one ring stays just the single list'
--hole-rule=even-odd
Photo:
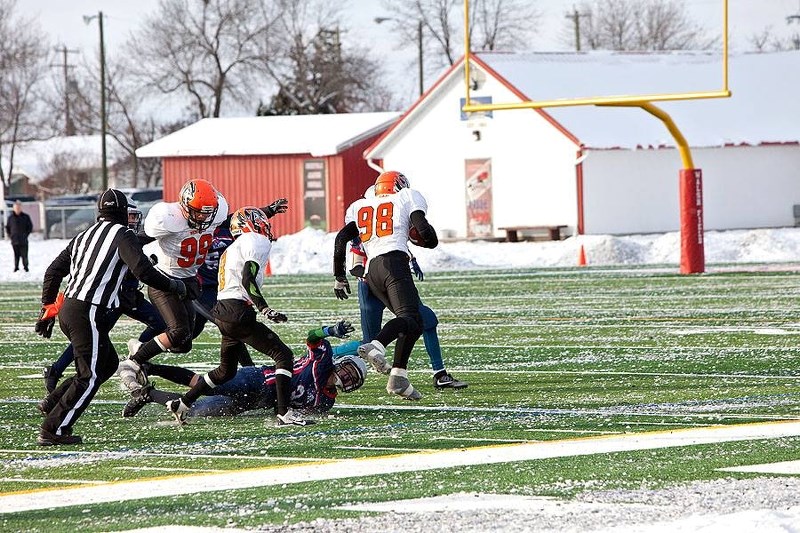
[{"label": "player in white number 98 jersey running with the ball", "polygon": [[[359,237],[367,254],[365,279],[369,289],[395,317],[375,339],[359,346],[358,354],[373,367],[389,372],[386,391],[407,400],[422,395],[408,380],[408,359],[422,334],[420,299],[408,264],[408,238],[411,227],[419,234],[419,244],[435,248],[436,231],[426,218],[427,202],[409,188],[409,180],[397,171],[383,172],[375,180],[374,198],[362,198],[347,209],[345,225],[336,235],[333,253],[334,294],[348,298],[350,285],[345,273],[345,254],[350,241]],[[392,364],[386,361],[386,346],[397,341]]]}]

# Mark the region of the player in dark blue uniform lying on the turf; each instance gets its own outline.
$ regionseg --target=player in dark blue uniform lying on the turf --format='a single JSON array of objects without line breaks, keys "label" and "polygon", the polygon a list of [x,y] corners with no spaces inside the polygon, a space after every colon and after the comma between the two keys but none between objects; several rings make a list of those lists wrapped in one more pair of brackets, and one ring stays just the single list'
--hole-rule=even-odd
[{"label": "player in dark blue uniform lying on the turf", "polygon": [[[356,356],[344,356],[333,360],[333,350],[325,337],[346,338],[353,331],[347,321],[339,321],[308,332],[308,350],[294,364],[291,380],[291,406],[307,414],[328,411],[336,401],[337,390],[352,392],[364,384],[367,367]],[[169,381],[192,386],[202,379],[200,374],[182,367],[148,363],[147,374],[160,376]],[[240,368],[230,381],[215,387],[211,396],[198,399],[187,413],[188,416],[233,416],[255,409],[274,409],[277,405],[274,366],[251,366]],[[131,393],[122,416],[135,416],[148,403],[166,405],[180,398],[180,394],[156,389],[149,383]]]}]

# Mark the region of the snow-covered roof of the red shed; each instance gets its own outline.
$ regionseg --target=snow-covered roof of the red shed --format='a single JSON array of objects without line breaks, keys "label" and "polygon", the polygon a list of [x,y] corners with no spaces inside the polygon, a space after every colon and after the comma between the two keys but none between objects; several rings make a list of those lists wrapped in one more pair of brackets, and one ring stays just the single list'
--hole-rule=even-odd
[{"label": "snow-covered roof of the red shed", "polygon": [[380,133],[399,112],[206,118],[136,150],[139,157],[333,155]]}]

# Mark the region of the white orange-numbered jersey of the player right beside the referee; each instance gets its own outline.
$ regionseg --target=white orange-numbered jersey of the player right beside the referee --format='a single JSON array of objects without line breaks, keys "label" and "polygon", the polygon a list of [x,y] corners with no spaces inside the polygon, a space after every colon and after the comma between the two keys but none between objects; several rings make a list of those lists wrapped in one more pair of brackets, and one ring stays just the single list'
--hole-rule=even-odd
[{"label": "white orange-numbered jersey of the player right beside the referee", "polygon": [[207,229],[189,227],[177,202],[159,202],[144,219],[144,232],[155,239],[144,247],[145,254],[158,258],[156,268],[173,278],[191,278],[206,260],[214,230],[228,218],[228,203],[217,195],[219,209]]}]

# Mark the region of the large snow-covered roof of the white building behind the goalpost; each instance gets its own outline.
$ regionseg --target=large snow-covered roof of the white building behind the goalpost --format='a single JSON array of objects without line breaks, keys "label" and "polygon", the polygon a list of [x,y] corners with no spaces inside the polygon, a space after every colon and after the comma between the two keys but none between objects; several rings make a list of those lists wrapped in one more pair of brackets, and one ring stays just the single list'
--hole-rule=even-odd
[{"label": "large snow-covered roof of the white building behind the goalpost", "polygon": [[[534,100],[708,92],[723,87],[719,53],[479,53],[477,57]],[[694,147],[800,141],[800,51],[731,55],[729,76],[730,98],[654,105],[672,117]],[[675,145],[662,122],[638,108],[545,111],[587,147]]]}]

